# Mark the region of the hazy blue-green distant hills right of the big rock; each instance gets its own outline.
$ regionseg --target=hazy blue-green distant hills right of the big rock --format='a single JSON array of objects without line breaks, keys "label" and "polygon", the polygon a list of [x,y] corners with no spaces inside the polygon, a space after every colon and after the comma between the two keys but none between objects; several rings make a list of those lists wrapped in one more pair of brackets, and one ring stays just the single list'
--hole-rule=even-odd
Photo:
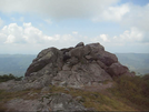
[{"label": "hazy blue-green distant hills right of the big rock", "polygon": [[116,53],[119,61],[137,74],[149,73],[149,53]]}]

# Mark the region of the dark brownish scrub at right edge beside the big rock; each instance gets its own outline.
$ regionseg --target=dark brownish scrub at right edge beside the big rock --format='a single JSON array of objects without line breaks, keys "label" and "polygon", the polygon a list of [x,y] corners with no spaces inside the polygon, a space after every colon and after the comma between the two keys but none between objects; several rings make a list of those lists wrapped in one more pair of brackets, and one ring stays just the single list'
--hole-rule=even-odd
[{"label": "dark brownish scrub at right edge beside the big rock", "polygon": [[149,75],[145,77],[121,77],[115,79],[115,86],[109,92],[117,98],[125,98],[131,102],[136,109],[141,111],[149,110]]}]

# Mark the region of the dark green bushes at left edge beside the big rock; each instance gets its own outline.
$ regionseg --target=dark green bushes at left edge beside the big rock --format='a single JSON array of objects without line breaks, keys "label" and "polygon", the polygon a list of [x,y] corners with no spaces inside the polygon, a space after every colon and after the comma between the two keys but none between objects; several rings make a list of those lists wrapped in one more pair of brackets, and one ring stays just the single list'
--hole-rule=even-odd
[{"label": "dark green bushes at left edge beside the big rock", "polygon": [[0,75],[0,82],[6,82],[6,81],[9,81],[9,80],[16,80],[16,81],[21,81],[23,77],[14,77],[13,74],[3,74],[3,75]]}]

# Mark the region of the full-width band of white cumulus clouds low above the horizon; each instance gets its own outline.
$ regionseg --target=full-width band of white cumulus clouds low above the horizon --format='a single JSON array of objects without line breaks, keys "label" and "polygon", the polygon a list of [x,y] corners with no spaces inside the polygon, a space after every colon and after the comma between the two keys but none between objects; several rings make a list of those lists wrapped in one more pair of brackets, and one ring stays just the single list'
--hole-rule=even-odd
[{"label": "full-width band of white cumulus clouds low above the horizon", "polygon": [[64,45],[66,43],[74,43],[79,41],[92,41],[92,42],[102,42],[102,43],[143,43],[149,42],[146,40],[146,32],[139,30],[138,28],[131,28],[126,30],[122,34],[110,37],[108,34],[100,34],[95,38],[89,38],[86,35],[79,35],[77,31],[72,31],[72,34],[53,34],[47,35],[43,34],[41,30],[33,27],[31,22],[23,23],[22,27],[17,23],[10,23],[4,26],[0,31],[0,39],[2,43],[17,43],[17,44],[49,44],[49,43],[61,43],[59,47]]}]

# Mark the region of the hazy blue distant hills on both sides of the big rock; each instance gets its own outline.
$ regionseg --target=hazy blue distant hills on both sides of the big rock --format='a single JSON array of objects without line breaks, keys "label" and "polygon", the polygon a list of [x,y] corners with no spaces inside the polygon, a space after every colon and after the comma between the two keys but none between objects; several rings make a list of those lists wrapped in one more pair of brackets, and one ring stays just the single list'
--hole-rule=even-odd
[{"label": "hazy blue distant hills on both sides of the big rock", "polygon": [[[149,73],[149,53],[115,53],[120,63],[137,74]],[[0,74],[24,75],[36,54],[0,54]]]}]

